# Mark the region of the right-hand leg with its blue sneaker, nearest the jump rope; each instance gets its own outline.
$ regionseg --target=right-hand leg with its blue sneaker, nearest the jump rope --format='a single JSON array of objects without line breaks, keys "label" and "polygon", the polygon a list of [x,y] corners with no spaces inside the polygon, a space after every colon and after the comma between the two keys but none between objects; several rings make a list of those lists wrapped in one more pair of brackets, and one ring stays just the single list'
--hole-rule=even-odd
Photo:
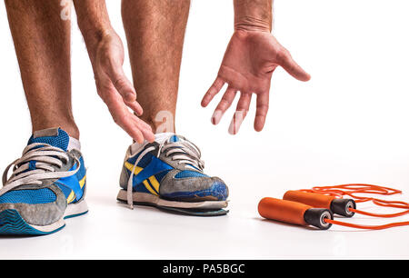
[{"label": "right-hand leg with its blue sneaker, nearest the jump rope", "polygon": [[[137,101],[144,108],[142,119],[151,124],[157,144],[132,144],[128,149],[117,199],[131,206],[153,204],[178,213],[224,215],[227,186],[220,178],[204,174],[205,164],[195,144],[168,134],[175,132],[189,6],[189,0],[123,0]],[[161,122],[163,117],[165,123]],[[157,158],[150,159],[152,156]]]}]

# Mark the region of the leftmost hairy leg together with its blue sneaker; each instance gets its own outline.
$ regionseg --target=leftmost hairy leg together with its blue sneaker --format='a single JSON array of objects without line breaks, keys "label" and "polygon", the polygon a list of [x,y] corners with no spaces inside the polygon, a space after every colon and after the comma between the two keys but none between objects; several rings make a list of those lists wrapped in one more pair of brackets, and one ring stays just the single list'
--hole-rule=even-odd
[{"label": "leftmost hairy leg together with its blue sneaker", "polygon": [[0,234],[55,233],[65,218],[88,211],[85,164],[71,113],[70,23],[60,17],[59,0],[7,0],[5,6],[33,135],[21,158],[5,169],[0,223],[6,224]]}]

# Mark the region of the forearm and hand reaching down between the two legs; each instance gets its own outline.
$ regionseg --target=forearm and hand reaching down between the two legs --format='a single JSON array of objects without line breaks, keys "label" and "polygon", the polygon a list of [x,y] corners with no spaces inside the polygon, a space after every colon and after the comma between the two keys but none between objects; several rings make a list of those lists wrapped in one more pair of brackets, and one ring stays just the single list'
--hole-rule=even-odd
[{"label": "forearm and hand reaching down between the two legs", "polygon": [[115,123],[136,142],[143,143],[144,139],[154,141],[150,125],[136,116],[143,113],[142,107],[136,102],[134,86],[124,74],[124,45],[111,26],[105,0],[73,2],[77,23],[93,65],[98,94],[108,106]]}]

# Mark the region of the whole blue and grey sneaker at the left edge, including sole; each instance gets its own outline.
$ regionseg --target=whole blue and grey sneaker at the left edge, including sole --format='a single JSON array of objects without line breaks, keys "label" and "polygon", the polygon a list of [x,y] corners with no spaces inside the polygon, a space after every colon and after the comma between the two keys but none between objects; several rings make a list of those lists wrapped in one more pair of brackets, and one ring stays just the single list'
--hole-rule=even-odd
[{"label": "whole blue and grey sneaker at the left edge, including sole", "polygon": [[0,234],[55,233],[65,226],[65,218],[88,212],[84,159],[75,144],[79,142],[59,128],[31,136],[22,157],[3,174]]}]

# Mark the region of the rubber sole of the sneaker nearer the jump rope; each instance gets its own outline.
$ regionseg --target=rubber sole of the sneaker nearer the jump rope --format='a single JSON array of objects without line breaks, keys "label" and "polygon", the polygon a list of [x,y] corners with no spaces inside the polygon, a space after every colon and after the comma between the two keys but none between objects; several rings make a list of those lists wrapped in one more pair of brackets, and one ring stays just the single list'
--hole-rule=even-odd
[{"label": "rubber sole of the sneaker nearer the jump rope", "polygon": [[[132,197],[134,204],[153,206],[173,213],[182,213],[194,216],[220,216],[229,212],[224,210],[224,208],[227,206],[227,201],[175,202],[161,199],[159,196],[154,194],[138,192],[133,193]],[[119,190],[116,200],[126,203],[126,190]]]}]

